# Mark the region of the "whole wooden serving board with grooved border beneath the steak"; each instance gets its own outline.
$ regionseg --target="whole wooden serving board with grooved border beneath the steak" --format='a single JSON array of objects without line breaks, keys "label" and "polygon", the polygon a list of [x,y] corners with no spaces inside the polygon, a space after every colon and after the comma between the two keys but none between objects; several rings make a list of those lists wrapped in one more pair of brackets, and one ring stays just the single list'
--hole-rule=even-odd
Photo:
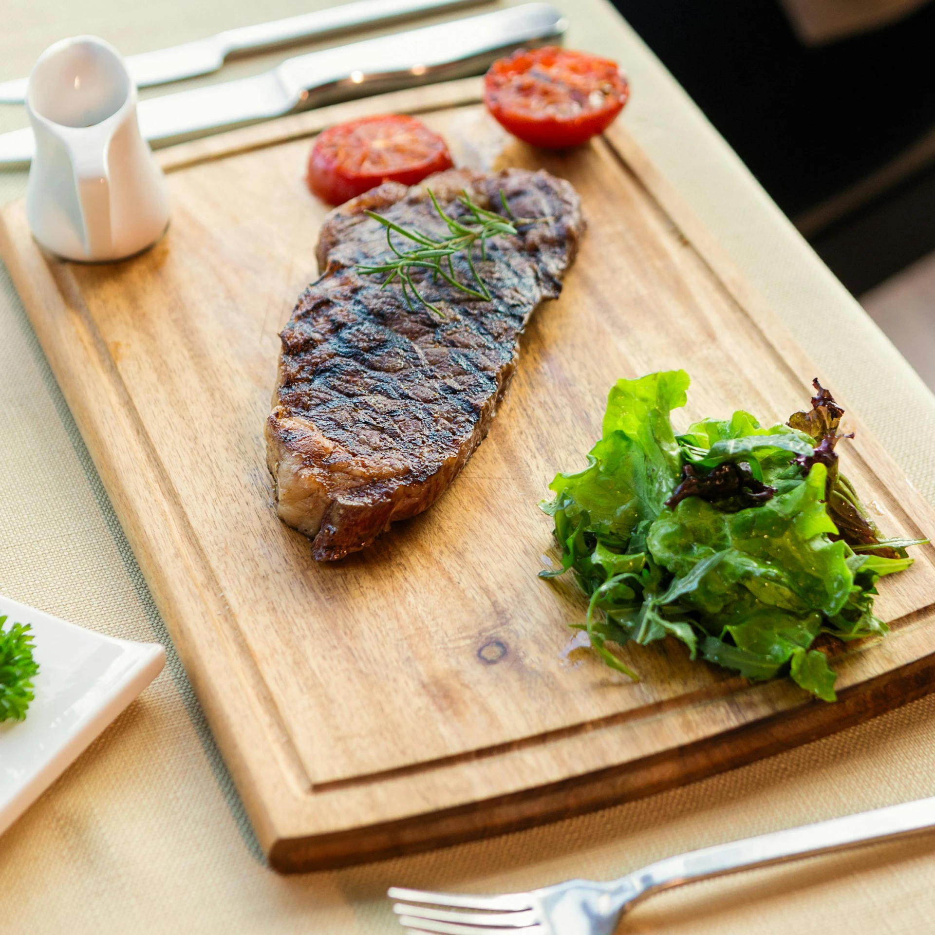
[{"label": "whole wooden serving board with grooved border beneath the steak", "polygon": [[[935,553],[882,585],[892,635],[837,658],[841,701],[751,686],[680,644],[625,651],[639,683],[569,649],[573,583],[536,508],[583,466],[619,377],[684,367],[683,427],[784,420],[815,368],[618,122],[579,151],[503,150],[476,80],[328,108],[167,150],[172,223],[149,252],[45,255],[22,203],[0,249],[273,866],[304,870],[552,820],[725,770],[929,691]],[[278,332],[315,278],[325,209],[309,140],[420,113],[462,157],[543,166],[589,230],[523,339],[511,394],[431,510],[317,565],[276,517],[263,426]],[[834,374],[823,375],[832,389]],[[845,404],[846,405],[846,404]],[[886,533],[935,515],[870,433],[843,464]]]}]

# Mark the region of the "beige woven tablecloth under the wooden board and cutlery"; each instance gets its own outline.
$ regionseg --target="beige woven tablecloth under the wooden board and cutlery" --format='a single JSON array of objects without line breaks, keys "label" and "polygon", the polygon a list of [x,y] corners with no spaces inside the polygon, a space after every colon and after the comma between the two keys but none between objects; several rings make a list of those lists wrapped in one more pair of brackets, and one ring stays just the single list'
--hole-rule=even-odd
[{"label": "beige woven tablecloth under the wooden board and cutlery", "polygon": [[[557,0],[569,44],[626,65],[626,122],[834,384],[935,500],[935,399],[603,0]],[[51,41],[123,51],[324,6],[309,0],[3,0],[0,79]],[[223,78],[268,65],[241,62]],[[0,108],[0,130],[24,122]],[[22,194],[0,173],[0,197]],[[935,530],[933,530],[935,531]],[[0,592],[82,626],[162,640],[163,675],[0,840],[4,935],[390,933],[387,885],[497,890],[935,794],[935,699],[712,780],[573,821],[366,867],[266,869],[230,779],[32,328],[0,269]],[[696,885],[622,930],[930,932],[935,837]]]}]

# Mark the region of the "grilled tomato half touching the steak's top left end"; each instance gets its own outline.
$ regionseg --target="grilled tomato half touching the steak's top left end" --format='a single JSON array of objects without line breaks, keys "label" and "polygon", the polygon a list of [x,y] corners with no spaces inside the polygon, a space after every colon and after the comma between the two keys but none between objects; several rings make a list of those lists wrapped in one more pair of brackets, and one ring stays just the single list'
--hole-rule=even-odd
[{"label": "grilled tomato half touching the steak's top left end", "polygon": [[381,114],[320,133],[309,155],[307,180],[313,194],[340,205],[381,182],[414,185],[452,165],[444,139],[422,121]]}]

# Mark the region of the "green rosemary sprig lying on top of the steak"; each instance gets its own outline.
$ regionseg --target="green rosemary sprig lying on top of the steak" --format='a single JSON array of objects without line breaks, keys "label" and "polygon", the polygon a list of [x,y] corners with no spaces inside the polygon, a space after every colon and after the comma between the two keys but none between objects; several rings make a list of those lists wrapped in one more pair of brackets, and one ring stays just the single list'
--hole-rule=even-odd
[{"label": "green rosemary sprig lying on top of the steak", "polygon": [[[482,280],[477,268],[474,266],[472,252],[475,244],[480,243],[481,259],[487,259],[487,240],[495,237],[497,234],[505,236],[516,236],[519,232],[516,224],[533,223],[533,221],[545,220],[544,218],[526,219],[515,218],[507,204],[507,196],[500,189],[500,201],[506,212],[506,217],[502,214],[496,214],[494,211],[482,209],[480,205],[473,202],[467,192],[463,192],[457,198],[458,204],[468,209],[468,215],[460,218],[453,218],[446,214],[439,205],[438,199],[431,189],[428,189],[428,196],[432,199],[432,204],[439,212],[439,217],[448,225],[450,237],[437,239],[429,237],[414,228],[406,228],[384,218],[376,211],[365,211],[368,218],[372,218],[377,223],[381,223],[386,228],[386,242],[390,250],[396,254],[396,259],[387,263],[374,264],[372,266],[357,266],[357,272],[365,275],[383,274],[386,279],[382,282],[381,289],[385,289],[393,282],[399,281],[402,287],[403,297],[410,310],[415,310],[412,305],[412,299],[418,299],[433,315],[444,321],[445,314],[433,305],[419,292],[419,287],[412,279],[412,273],[417,269],[430,269],[432,271],[432,281],[436,281],[440,276],[444,281],[453,285],[455,289],[460,290],[474,298],[490,301],[492,296],[487,284]],[[507,218],[510,220],[508,221]],[[405,237],[407,240],[416,244],[410,250],[400,250],[393,242],[393,234]],[[463,253],[468,260],[473,285],[467,282],[458,281],[454,272],[453,257],[457,253]]]}]

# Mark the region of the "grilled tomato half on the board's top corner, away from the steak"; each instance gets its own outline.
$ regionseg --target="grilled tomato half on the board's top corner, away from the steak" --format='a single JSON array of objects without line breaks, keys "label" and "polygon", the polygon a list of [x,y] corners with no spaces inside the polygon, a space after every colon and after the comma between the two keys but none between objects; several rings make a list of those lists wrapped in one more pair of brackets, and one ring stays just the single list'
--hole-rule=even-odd
[{"label": "grilled tomato half on the board's top corner, away from the steak", "polygon": [[629,84],[615,62],[546,46],[497,59],[483,100],[514,137],[564,150],[602,133],[623,110]]}]

